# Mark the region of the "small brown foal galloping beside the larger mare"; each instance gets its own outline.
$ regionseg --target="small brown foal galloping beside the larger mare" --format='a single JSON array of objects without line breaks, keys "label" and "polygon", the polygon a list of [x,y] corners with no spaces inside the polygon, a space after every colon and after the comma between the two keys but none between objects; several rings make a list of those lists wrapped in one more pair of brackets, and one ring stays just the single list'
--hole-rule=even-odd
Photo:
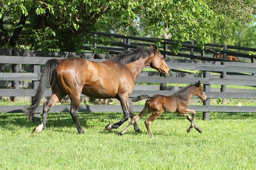
[{"label": "small brown foal galloping beside the larger mare", "polygon": [[[157,94],[152,97],[147,95],[141,95],[133,98],[133,102],[138,102],[142,99],[149,100],[146,101],[145,106],[140,114],[133,117],[128,126],[120,133],[120,135],[124,135],[130,125],[136,123],[136,121],[138,121],[140,117],[143,117],[144,115],[152,112],[150,117],[148,117],[148,119],[146,119],[144,123],[148,130],[149,136],[153,138],[153,134],[150,130],[150,124],[154,120],[156,120],[164,111],[178,112],[178,114],[182,114],[184,117],[186,117],[191,122],[187,133],[189,133],[193,127],[195,127],[195,129],[199,133],[202,133],[201,129],[195,124],[196,111],[187,109],[189,105],[189,100],[194,95],[198,96],[203,101],[207,101],[207,96],[204,92],[204,88],[201,86],[200,81],[195,84],[190,84],[190,86],[182,88],[178,92],[170,96],[163,96]],[[193,116],[191,117],[190,115],[188,115],[188,113],[191,113]]]}]

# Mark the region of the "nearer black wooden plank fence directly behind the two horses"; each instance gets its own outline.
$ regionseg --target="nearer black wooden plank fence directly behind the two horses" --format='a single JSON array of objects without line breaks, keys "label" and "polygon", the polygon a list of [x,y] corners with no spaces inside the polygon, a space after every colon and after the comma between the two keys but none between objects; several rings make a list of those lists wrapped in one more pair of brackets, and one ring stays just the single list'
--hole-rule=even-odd
[{"label": "nearer black wooden plank fence directly behind the two horses", "polygon": [[[9,51],[10,52],[10,51]],[[45,55],[47,57],[24,57],[24,56],[0,56],[0,63],[2,64],[31,64],[31,72],[2,72],[0,73],[0,81],[32,81],[32,89],[0,89],[0,96],[34,96],[34,88],[37,87],[38,80],[40,80],[40,67],[49,59],[64,59],[64,57],[79,56],[82,58],[89,58],[92,61],[104,61],[104,59],[92,59],[92,53],[51,53],[51,52],[37,52],[37,51],[18,51],[16,54],[23,55],[25,53],[32,53],[34,56]],[[43,54],[39,54],[43,53]],[[7,55],[7,52],[6,52]],[[10,53],[9,53],[10,55]],[[188,73],[188,72],[173,72],[170,77],[164,78],[159,76],[158,72],[142,72],[137,78],[136,82],[140,83],[170,83],[170,84],[190,84],[198,80],[204,84],[206,95],[208,98],[240,98],[240,99],[256,99],[256,90],[237,90],[225,89],[220,92],[220,89],[211,89],[211,84],[220,85],[246,85],[256,86],[256,77],[249,75],[256,72],[256,65],[254,63],[239,63],[239,62],[223,62],[223,61],[199,61],[199,60],[186,60],[186,59],[167,59],[167,64],[171,69],[184,69],[184,70],[200,70],[203,73]],[[248,75],[211,75],[210,72],[242,72],[249,73]],[[170,95],[176,92],[178,88],[166,87],[165,90],[156,89],[155,86],[150,86],[145,90],[145,86],[136,86],[136,90],[132,92],[131,97],[141,94],[152,96],[154,94]],[[43,96],[50,96],[51,90],[46,89]],[[81,95],[83,96],[83,95]],[[143,106],[132,106],[134,111],[141,111]],[[24,106],[0,106],[0,113],[20,113]],[[205,103],[204,106],[189,106],[190,109],[204,112],[204,119],[209,119],[211,111],[216,112],[256,112],[256,107],[239,107],[239,106],[211,106],[210,102]],[[70,106],[54,106],[51,112],[69,112]],[[42,111],[42,106],[38,107],[36,112]],[[79,111],[83,112],[119,112],[122,111],[121,106],[80,106]],[[36,117],[40,117],[36,114]],[[34,119],[37,119],[37,118]]]}]

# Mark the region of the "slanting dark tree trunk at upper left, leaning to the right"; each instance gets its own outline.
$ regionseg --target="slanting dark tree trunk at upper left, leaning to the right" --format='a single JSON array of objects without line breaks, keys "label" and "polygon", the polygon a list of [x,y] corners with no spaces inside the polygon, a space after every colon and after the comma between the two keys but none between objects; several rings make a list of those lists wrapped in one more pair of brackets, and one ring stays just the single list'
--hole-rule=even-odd
[{"label": "slanting dark tree trunk at upper left, leaning to the right", "polygon": [[22,16],[20,17],[20,21],[18,23],[17,28],[14,30],[13,34],[12,34],[12,38],[9,41],[9,45],[11,47],[15,47],[15,45],[17,44],[17,41],[19,39],[21,30],[24,26],[24,24],[26,23],[28,16],[25,16],[25,14],[22,14]]}]

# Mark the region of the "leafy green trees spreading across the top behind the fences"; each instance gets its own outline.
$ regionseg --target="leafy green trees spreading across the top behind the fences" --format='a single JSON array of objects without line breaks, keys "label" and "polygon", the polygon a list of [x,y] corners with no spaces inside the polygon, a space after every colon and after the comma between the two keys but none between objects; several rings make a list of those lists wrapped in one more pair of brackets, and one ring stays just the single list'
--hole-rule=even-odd
[{"label": "leafy green trees spreading across the top behind the fences", "polygon": [[[255,4],[255,0],[2,0],[0,45],[19,45],[23,30],[23,45],[32,49],[44,50],[45,45],[38,43],[47,40],[48,49],[80,51],[86,32],[113,29],[114,24],[124,33],[154,37],[168,27],[177,47],[187,40],[203,46],[210,43],[214,23],[239,26],[253,21]],[[237,22],[230,23],[230,18]],[[219,32],[225,35],[225,30]]]}]

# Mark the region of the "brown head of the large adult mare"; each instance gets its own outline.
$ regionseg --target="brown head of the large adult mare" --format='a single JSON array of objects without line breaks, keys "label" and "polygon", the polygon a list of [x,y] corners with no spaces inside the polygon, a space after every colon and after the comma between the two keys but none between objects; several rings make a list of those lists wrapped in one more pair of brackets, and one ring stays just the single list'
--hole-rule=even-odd
[{"label": "brown head of the large adult mare", "polygon": [[164,60],[164,56],[160,53],[160,51],[158,50],[156,45],[154,45],[154,46],[150,45],[150,48],[154,49],[154,51],[156,52],[150,62],[150,67],[155,68],[159,72],[163,73],[164,77],[170,76],[171,70],[168,67],[168,65],[166,64],[166,62]]}]

